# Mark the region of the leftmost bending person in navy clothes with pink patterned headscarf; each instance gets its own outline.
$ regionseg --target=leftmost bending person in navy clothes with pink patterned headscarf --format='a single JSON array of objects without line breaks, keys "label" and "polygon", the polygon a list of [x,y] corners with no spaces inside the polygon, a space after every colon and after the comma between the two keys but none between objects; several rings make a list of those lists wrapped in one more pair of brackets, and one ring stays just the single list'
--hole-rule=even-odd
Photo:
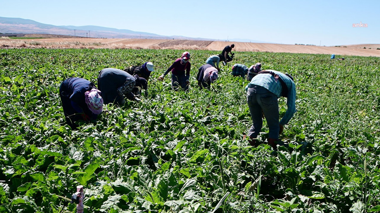
[{"label": "leftmost bending person in navy clothes with pink patterned headscarf", "polygon": [[75,121],[96,121],[103,110],[101,92],[95,85],[83,78],[67,78],[59,87],[66,123],[77,128]]}]

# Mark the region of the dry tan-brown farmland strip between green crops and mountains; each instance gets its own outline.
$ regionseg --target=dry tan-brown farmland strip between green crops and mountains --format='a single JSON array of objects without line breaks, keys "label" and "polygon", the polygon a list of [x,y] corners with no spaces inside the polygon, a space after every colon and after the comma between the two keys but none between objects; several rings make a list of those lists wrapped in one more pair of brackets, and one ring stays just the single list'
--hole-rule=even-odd
[{"label": "dry tan-brown farmland strip between green crops and mountains", "polygon": [[[29,35],[30,36],[30,35]],[[321,47],[313,45],[266,44],[250,42],[194,41],[170,39],[103,39],[103,38],[44,38],[9,39],[0,38],[0,48],[109,48],[109,49],[181,49],[222,51],[226,45],[234,43],[233,51],[285,52],[377,56],[380,44],[347,45],[341,47]],[[364,49],[364,47],[366,49]]]}]

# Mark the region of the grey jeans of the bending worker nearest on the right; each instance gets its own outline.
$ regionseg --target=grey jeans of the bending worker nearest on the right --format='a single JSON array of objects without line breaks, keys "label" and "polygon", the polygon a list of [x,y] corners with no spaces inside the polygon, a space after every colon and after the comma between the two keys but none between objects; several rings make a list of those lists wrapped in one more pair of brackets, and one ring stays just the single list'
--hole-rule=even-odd
[{"label": "grey jeans of the bending worker nearest on the right", "polygon": [[251,138],[257,138],[261,132],[261,128],[263,127],[262,111],[268,124],[269,138],[278,139],[280,121],[277,96],[268,89],[255,85],[253,88],[248,88],[247,103],[253,121],[247,135]]}]

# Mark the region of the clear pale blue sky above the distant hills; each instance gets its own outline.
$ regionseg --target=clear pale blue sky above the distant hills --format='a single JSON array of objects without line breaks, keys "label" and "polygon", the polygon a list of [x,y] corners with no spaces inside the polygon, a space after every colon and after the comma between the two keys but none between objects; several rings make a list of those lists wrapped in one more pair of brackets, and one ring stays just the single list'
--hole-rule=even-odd
[{"label": "clear pale blue sky above the distant hills", "polygon": [[[280,44],[380,44],[380,1],[0,0],[0,16],[165,36]],[[368,27],[352,27],[353,23]]]}]

